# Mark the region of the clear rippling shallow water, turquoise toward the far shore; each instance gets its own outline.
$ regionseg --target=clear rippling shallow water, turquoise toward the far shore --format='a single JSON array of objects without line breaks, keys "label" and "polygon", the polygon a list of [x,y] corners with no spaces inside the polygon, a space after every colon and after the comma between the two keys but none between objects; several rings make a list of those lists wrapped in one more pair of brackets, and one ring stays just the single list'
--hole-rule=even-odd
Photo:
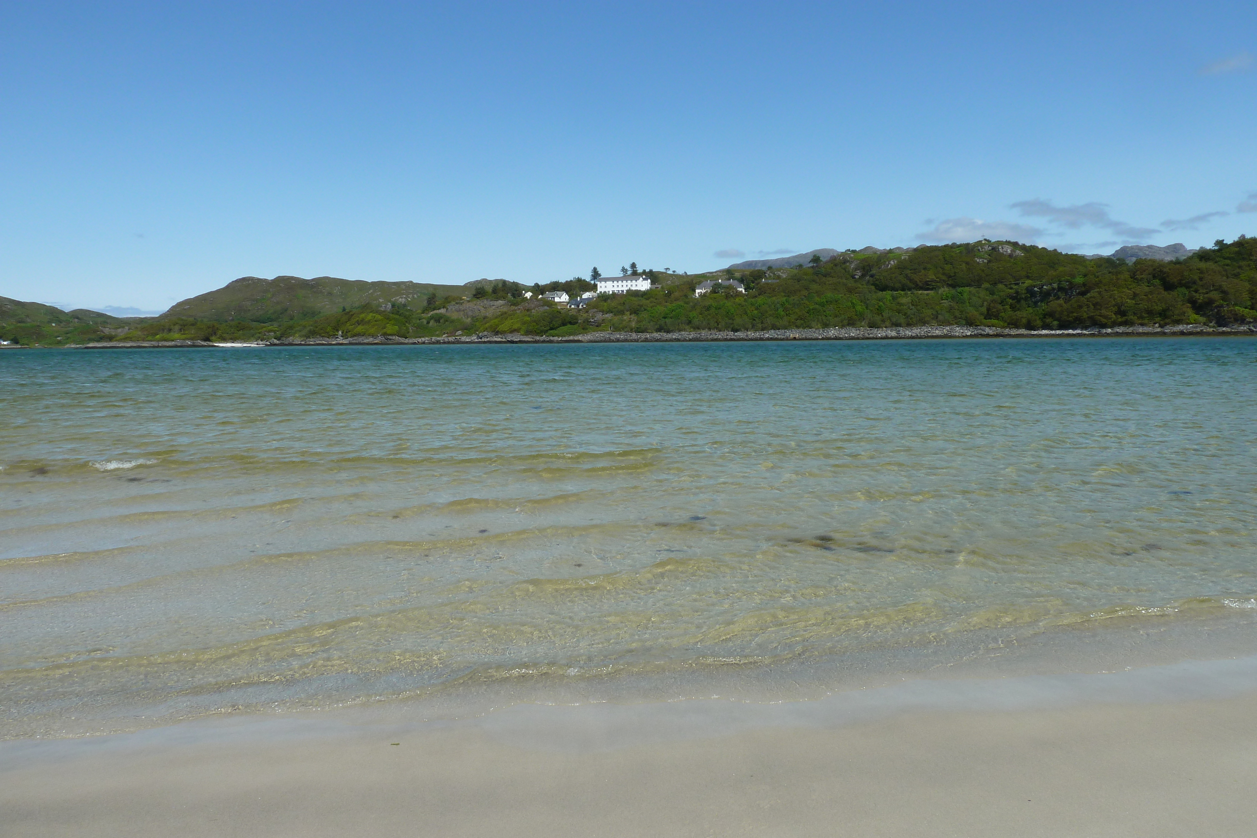
[{"label": "clear rippling shallow water, turquoise toward the far shore", "polygon": [[1257,339],[9,351],[0,392],[0,735],[1257,607]]}]

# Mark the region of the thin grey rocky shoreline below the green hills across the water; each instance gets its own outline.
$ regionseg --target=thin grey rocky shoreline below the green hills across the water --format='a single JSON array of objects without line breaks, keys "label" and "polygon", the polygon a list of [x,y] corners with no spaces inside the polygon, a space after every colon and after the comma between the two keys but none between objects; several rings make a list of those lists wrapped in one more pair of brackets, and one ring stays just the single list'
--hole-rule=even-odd
[{"label": "thin grey rocky shoreline below the green hills across the water", "polygon": [[[1125,325],[1112,329],[997,329],[985,325],[915,325],[885,329],[831,328],[831,329],[772,329],[767,332],[590,332],[568,338],[530,334],[480,334],[444,338],[397,338],[377,335],[370,338],[304,338],[295,340],[265,340],[259,347],[362,347],[362,346],[431,346],[468,343],[691,343],[739,340],[911,340],[925,338],[1058,338],[1058,337],[1182,337],[1182,335],[1257,335],[1257,324],[1209,325]],[[236,344],[241,346],[241,344]],[[207,340],[148,340],[88,343],[70,349],[161,349],[161,348],[221,348]]]}]

